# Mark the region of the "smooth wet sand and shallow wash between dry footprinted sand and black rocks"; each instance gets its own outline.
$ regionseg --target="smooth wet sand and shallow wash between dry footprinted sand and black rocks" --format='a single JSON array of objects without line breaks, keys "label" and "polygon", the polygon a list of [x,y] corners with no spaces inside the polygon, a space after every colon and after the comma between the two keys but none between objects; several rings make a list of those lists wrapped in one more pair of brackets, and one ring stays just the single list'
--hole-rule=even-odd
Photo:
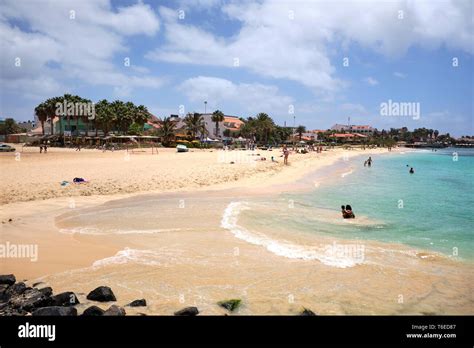
[{"label": "smooth wet sand and shallow wash between dry footprinted sand and black rocks", "polygon": [[[369,155],[369,152],[353,151],[349,156],[357,159],[356,156],[364,154]],[[307,189],[312,184],[314,173],[324,172],[318,180],[323,185],[341,179],[347,173],[347,168],[338,165],[342,163],[341,155],[342,151],[328,152],[329,158],[324,161],[307,157],[308,161],[299,161],[293,167],[272,173],[273,178],[259,173],[227,185],[200,189],[74,197],[73,209],[68,206],[69,197],[4,205],[6,209],[0,213],[2,221],[9,212],[16,212],[12,223],[2,224],[5,240],[38,243],[41,251],[40,261],[36,263],[6,260],[5,271],[16,274],[20,280],[29,279],[29,285],[44,281],[55,291],[73,291],[84,305],[87,304],[84,292],[97,286],[110,286],[121,305],[146,298],[149,305],[140,312],[149,315],[170,315],[187,306],[198,307],[204,315],[219,315],[224,312],[215,303],[225,298],[242,299],[243,306],[238,314],[297,314],[302,307],[319,314],[401,315],[468,311],[465,296],[457,300],[459,293],[455,289],[463,289],[461,293],[464,291],[466,280],[463,274],[471,265],[460,260],[438,257],[435,252],[403,244],[367,240],[362,243],[366,246],[369,262],[338,268],[317,260],[282,257],[261,245],[236,238],[231,230],[222,227],[220,210],[234,198],[275,197],[287,189],[290,192],[294,192],[291,188],[295,187]],[[263,182],[262,177],[265,178]],[[245,192],[242,192],[244,188]],[[186,210],[176,209],[183,197]],[[89,212],[95,213],[93,219],[96,219],[101,212],[107,214],[118,210],[117,217],[121,218],[121,211],[140,211],[139,208],[136,210],[137,205],[154,209],[153,202],[157,201],[160,208],[156,210],[155,219],[159,225],[155,226],[153,221],[140,223],[160,230],[145,233],[140,230],[139,234],[133,231],[103,235],[60,233],[64,223],[66,230],[67,223],[74,227],[79,221],[74,222],[74,219],[87,219]],[[174,213],[167,213],[169,209]],[[86,217],[81,217],[82,214]],[[133,212],[128,214],[133,216]],[[134,220],[127,216],[123,219],[134,227]],[[65,217],[72,217],[72,220],[65,220]],[[185,227],[190,222],[193,229],[187,231]],[[82,225],[79,223],[78,226]],[[361,241],[304,237],[298,243],[301,246],[324,246]],[[237,254],[235,250],[238,250]],[[369,275],[371,288],[366,289],[360,279]],[[413,279],[414,283],[406,279]],[[442,279],[449,279],[447,284],[450,285],[440,282]],[[331,295],[333,297],[328,297],[335,284],[341,288]],[[451,304],[445,304],[445,296],[439,297],[438,290],[433,293],[430,290],[433,286],[447,294]],[[308,292],[309,288],[312,290]],[[271,289],[271,299],[265,295],[268,289]],[[403,292],[407,301],[413,304],[398,308],[396,302],[380,297],[377,289],[385,289],[387,294],[384,296],[393,299]],[[296,298],[294,302],[288,301],[289,294]],[[368,306],[365,296],[374,298],[379,307]]]}]

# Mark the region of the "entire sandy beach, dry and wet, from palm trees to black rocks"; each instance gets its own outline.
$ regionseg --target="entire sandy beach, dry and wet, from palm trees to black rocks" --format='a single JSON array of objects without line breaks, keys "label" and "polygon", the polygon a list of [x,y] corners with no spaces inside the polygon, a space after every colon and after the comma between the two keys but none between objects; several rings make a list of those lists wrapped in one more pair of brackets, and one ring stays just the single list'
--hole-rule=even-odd
[{"label": "entire sandy beach, dry and wet, from palm trees to black rocks", "polygon": [[[23,153],[20,161],[2,154],[2,239],[37,245],[39,257],[6,258],[0,273],[14,273],[30,286],[41,281],[55,292],[74,291],[79,312],[90,305],[85,295],[100,285],[114,290],[119,305],[147,299],[147,308],[129,314],[169,315],[186,306],[223,314],[215,303],[225,298],[243,299],[239,314],[297,314],[303,307],[320,314],[470,312],[469,267],[436,253],[366,241],[370,262],[338,268],[281,257],[269,252],[271,245],[248,243],[239,230],[226,227],[234,221],[226,212],[237,198],[278,194],[344,158],[390,155],[386,149],[295,154],[290,166],[282,165],[276,151],[259,153],[267,161],[254,161],[259,156],[244,151],[223,162],[219,151],[171,149],[128,159],[123,151],[52,149],[46,155]],[[272,155],[279,163],[269,161]],[[334,169],[318,185],[349,169]],[[89,183],[60,185],[75,176]],[[152,220],[149,213],[142,217],[142,207],[156,209]],[[339,212],[327,219],[339,220]],[[88,229],[91,221],[109,232]],[[110,223],[121,229],[107,229]],[[300,245],[315,244],[311,236],[297,238]],[[332,245],[335,239],[317,243]],[[400,296],[407,305],[400,306]]]}]

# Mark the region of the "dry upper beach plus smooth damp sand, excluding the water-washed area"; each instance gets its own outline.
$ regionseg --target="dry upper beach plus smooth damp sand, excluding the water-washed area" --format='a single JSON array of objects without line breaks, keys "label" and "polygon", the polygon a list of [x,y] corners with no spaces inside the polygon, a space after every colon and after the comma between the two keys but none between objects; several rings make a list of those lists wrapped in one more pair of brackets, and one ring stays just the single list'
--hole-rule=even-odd
[{"label": "dry upper beach plus smooth damp sand, excluding the water-washed area", "polygon": [[[387,150],[333,149],[320,154],[294,154],[289,166],[277,157],[279,151],[236,151],[225,158],[222,153],[176,153],[175,149],[161,149],[159,154],[152,155],[148,150],[127,156],[126,151],[51,148],[47,154],[40,154],[36,148],[28,148],[20,153],[20,160],[16,160],[15,153],[0,154],[2,239],[11,243],[40,243],[44,251],[40,262],[7,258],[2,260],[3,268],[19,277],[39,277],[89,266],[120,250],[113,241],[87,243],[86,237],[86,243],[80,243],[74,236],[58,233],[54,218],[60,214],[139,194],[230,189],[235,189],[236,194],[250,194],[275,185],[291,187],[305,174],[343,158]],[[272,155],[278,163],[268,160]],[[261,157],[267,161],[256,160]],[[223,158],[226,163],[221,163]],[[76,176],[89,182],[73,184]],[[63,180],[71,183],[63,187]]]}]

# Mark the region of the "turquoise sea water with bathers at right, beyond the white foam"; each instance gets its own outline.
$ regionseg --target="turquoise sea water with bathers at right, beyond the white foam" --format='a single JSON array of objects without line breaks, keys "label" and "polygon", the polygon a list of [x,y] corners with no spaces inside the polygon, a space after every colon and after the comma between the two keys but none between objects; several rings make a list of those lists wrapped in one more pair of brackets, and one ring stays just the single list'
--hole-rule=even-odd
[{"label": "turquoise sea water with bathers at right, beyond the white foam", "polygon": [[[473,260],[474,150],[448,148],[372,157],[370,168],[363,166],[363,157],[339,163],[350,170],[329,185],[281,194],[280,200],[267,204],[265,213],[254,207],[243,211],[239,220],[272,233],[401,243]],[[409,174],[407,165],[415,174]],[[334,218],[342,204],[350,204],[356,220],[367,223],[344,224]]]}]

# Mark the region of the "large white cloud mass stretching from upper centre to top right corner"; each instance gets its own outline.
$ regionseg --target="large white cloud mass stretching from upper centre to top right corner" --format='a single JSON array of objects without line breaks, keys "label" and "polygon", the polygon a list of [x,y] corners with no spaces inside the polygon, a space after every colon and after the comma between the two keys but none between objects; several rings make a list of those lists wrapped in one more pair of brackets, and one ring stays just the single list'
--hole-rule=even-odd
[{"label": "large white cloud mass stretching from upper centre to top right corner", "polygon": [[334,46],[349,50],[355,43],[388,57],[403,56],[412,46],[446,45],[474,53],[469,0],[351,1],[344,6],[331,1],[232,2],[221,10],[241,23],[232,36],[187,24],[176,11],[161,7],[166,43],[147,57],[228,68],[235,68],[234,58],[239,58],[239,69],[331,93],[345,86],[337,77]]}]

